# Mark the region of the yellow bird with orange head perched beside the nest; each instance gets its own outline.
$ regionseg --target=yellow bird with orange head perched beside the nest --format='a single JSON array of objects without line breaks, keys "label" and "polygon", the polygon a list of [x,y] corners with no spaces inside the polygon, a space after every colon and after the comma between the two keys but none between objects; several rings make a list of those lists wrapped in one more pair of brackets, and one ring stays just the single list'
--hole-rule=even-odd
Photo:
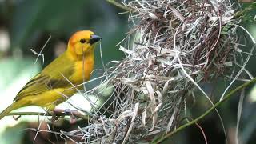
[{"label": "yellow bird with orange head perched beside the nest", "polygon": [[89,80],[94,69],[94,48],[100,39],[89,30],[73,34],[67,50],[23,86],[14,102],[2,111],[0,119],[24,106],[54,110],[55,106],[82,90],[82,82]]}]

